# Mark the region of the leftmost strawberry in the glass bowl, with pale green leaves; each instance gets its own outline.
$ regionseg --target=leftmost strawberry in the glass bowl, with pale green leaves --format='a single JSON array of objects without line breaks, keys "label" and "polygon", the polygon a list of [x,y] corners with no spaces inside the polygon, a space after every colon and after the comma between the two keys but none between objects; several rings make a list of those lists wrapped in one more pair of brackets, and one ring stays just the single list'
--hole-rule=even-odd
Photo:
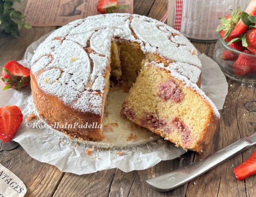
[{"label": "leftmost strawberry in the glass bowl, with pale green leaves", "polygon": [[234,27],[236,27],[239,19],[241,8],[233,10],[231,14],[227,15],[225,18],[219,18],[221,21],[221,25],[219,25],[216,29],[217,32],[220,32],[221,37],[227,42],[232,40],[233,38],[237,38],[238,36],[231,36],[230,33],[233,31]]}]

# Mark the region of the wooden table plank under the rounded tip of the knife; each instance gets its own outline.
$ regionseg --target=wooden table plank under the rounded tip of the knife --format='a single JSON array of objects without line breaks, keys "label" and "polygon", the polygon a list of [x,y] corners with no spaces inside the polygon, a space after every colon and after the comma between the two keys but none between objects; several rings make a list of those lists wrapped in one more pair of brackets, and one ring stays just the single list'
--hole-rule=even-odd
[{"label": "wooden table plank under the rounded tip of the knife", "polygon": [[185,196],[186,185],[170,192],[158,192],[150,188],[145,181],[164,173],[170,172],[178,167],[188,165],[193,159],[194,153],[189,151],[181,158],[162,161],[146,170],[122,172],[117,170],[111,189],[110,197],[114,196]]}]

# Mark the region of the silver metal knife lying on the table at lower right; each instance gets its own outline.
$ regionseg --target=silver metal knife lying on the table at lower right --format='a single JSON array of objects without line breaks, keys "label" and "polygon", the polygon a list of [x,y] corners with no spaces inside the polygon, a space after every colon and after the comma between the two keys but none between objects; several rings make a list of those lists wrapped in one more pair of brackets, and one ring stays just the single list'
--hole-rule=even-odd
[{"label": "silver metal knife lying on the table at lower right", "polygon": [[232,158],[239,152],[246,150],[253,145],[256,145],[256,132],[249,137],[241,138],[237,142],[230,144],[204,159],[191,163],[188,166],[179,168],[170,173],[163,174],[160,177],[147,180],[146,183],[158,191],[173,190],[197,178],[201,174],[216,167],[221,162]]}]

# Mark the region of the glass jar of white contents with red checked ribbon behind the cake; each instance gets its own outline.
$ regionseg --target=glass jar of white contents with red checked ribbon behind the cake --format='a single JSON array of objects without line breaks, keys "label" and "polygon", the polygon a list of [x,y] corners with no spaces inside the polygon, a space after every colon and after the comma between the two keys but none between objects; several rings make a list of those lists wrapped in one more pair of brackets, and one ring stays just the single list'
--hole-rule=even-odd
[{"label": "glass jar of white contents with red checked ribbon behind the cake", "polygon": [[230,9],[239,6],[241,10],[245,10],[249,2],[250,0],[170,0],[167,24],[176,26],[178,31],[191,40],[217,41],[219,17],[227,16],[231,13]]}]

